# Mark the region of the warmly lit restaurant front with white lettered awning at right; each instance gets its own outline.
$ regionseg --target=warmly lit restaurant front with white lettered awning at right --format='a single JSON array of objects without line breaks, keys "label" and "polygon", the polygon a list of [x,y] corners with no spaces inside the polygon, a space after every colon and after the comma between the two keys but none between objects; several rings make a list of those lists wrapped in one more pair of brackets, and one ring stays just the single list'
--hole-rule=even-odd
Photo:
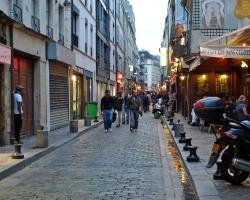
[{"label": "warmly lit restaurant front with white lettered awning at right", "polygon": [[188,74],[188,113],[198,99],[222,99],[250,95],[250,27],[237,30],[200,46],[200,57],[190,64]]}]

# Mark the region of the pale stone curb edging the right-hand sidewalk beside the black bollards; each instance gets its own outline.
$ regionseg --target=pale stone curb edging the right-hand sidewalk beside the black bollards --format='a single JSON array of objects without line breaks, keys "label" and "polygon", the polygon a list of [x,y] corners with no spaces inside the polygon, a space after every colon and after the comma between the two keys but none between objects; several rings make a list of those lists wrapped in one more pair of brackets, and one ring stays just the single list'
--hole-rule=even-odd
[{"label": "pale stone curb edging the right-hand sidewalk beside the black bollards", "polygon": [[164,119],[164,123],[168,126],[170,135],[174,141],[178,154],[180,155],[180,158],[182,159],[182,162],[190,178],[190,181],[192,185],[194,186],[194,190],[195,190],[197,198],[200,200],[221,200],[214,186],[213,181],[209,180],[209,178],[208,179],[195,178],[197,174],[196,169],[200,170],[200,172],[202,173],[202,176],[209,177],[210,175],[203,169],[200,162],[189,163],[186,161],[186,157],[188,156],[189,152],[185,152],[182,150],[183,144],[179,144],[178,142],[179,138],[174,137],[174,131],[171,130],[171,127],[169,123],[166,121],[166,119]]}]

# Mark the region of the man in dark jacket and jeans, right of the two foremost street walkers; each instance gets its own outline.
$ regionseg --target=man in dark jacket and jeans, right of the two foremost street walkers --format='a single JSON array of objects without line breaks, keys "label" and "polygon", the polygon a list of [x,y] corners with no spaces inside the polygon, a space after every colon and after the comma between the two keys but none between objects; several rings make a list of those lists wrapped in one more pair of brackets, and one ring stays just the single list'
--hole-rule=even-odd
[{"label": "man in dark jacket and jeans, right of the two foremost street walkers", "polygon": [[128,107],[130,110],[130,131],[137,131],[139,114],[142,112],[141,101],[135,92],[133,92],[132,97],[129,98]]}]

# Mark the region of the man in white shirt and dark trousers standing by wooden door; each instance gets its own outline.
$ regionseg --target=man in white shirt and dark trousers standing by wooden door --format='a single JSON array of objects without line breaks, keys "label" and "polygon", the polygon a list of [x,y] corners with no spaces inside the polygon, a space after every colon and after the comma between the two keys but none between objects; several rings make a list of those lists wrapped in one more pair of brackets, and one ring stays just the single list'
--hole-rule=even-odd
[{"label": "man in white shirt and dark trousers standing by wooden door", "polygon": [[20,133],[22,130],[23,122],[23,98],[22,98],[22,85],[17,85],[13,94],[14,103],[14,132],[15,142],[20,143]]}]

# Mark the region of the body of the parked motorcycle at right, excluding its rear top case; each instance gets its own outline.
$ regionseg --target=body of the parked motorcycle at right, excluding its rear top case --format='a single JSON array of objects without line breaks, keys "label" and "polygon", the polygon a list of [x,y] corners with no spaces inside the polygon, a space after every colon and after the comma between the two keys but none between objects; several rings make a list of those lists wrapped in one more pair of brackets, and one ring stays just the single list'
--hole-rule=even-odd
[{"label": "body of the parked motorcycle at right, excluding its rear top case", "polygon": [[250,174],[250,121],[236,121],[224,115],[223,126],[213,131],[216,136],[207,163],[211,168],[221,158],[221,174],[225,181],[238,185]]}]

